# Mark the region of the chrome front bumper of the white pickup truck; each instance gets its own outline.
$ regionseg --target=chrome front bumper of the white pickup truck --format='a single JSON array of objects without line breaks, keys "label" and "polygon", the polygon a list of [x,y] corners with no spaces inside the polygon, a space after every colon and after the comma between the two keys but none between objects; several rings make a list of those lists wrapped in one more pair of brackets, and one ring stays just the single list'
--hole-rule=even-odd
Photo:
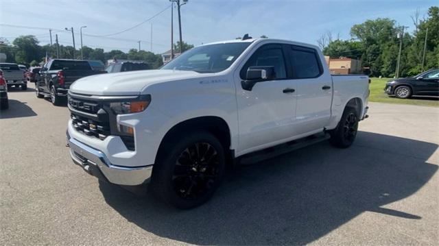
[{"label": "chrome front bumper of the white pickup truck", "polygon": [[[152,165],[146,167],[120,167],[110,163],[104,153],[84,145],[67,134],[70,155],[87,173],[112,184],[134,186],[143,184],[152,174]],[[102,177],[103,176],[103,177]]]}]

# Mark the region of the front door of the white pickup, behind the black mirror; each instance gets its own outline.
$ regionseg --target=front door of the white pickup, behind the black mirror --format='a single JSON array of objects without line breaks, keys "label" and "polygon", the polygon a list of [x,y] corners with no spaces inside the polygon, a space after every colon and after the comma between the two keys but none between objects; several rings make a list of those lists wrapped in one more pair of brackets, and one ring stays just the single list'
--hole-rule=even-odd
[{"label": "front door of the white pickup, behind the black mirror", "polygon": [[[244,90],[241,81],[246,78],[249,66],[274,66],[276,78]],[[292,137],[296,82],[289,77],[285,47],[281,44],[262,45],[237,71],[239,151],[260,149]]]}]

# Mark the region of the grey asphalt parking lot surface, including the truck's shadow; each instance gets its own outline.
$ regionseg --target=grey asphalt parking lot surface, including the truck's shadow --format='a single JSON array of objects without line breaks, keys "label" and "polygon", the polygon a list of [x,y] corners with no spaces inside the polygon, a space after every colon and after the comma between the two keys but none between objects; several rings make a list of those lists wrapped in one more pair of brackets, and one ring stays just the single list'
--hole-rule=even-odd
[{"label": "grey asphalt parking lot surface, including the truck's shadow", "polygon": [[175,210],[98,182],[65,147],[69,112],[12,89],[0,112],[0,245],[436,245],[439,108],[370,103],[353,147],[239,166]]}]

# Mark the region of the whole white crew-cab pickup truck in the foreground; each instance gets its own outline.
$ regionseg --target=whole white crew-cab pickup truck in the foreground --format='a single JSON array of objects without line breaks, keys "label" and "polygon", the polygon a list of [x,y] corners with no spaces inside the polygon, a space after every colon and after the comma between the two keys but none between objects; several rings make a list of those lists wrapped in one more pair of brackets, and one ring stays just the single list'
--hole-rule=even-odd
[{"label": "whole white crew-cab pickup truck in the foreground", "polygon": [[73,162],[99,179],[150,182],[171,205],[193,208],[237,158],[316,134],[352,145],[367,117],[368,83],[365,75],[331,75],[314,45],[215,42],[158,70],[78,79],[67,140]]}]

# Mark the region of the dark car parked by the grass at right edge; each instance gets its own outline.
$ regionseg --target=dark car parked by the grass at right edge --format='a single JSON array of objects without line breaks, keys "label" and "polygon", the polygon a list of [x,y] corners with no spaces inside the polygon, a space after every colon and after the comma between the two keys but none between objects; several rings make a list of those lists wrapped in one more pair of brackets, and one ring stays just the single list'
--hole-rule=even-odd
[{"label": "dark car parked by the grass at right edge", "polygon": [[414,77],[391,79],[385,84],[384,91],[402,99],[413,95],[439,96],[439,69],[430,69]]}]

